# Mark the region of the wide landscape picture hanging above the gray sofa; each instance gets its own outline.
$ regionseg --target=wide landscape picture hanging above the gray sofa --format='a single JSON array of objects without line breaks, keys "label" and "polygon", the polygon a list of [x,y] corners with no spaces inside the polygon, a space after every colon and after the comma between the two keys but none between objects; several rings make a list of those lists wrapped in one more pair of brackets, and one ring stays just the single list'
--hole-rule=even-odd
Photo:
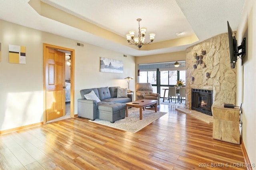
[{"label": "wide landscape picture hanging above the gray sofa", "polygon": [[123,73],[124,62],[100,57],[100,72]]}]

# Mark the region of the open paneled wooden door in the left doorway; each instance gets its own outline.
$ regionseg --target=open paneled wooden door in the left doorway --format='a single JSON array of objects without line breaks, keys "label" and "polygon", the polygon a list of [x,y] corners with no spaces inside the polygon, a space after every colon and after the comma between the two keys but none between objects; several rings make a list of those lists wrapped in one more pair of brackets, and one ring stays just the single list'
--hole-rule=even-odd
[{"label": "open paneled wooden door in the left doorway", "polygon": [[65,115],[65,53],[46,48],[46,122]]}]

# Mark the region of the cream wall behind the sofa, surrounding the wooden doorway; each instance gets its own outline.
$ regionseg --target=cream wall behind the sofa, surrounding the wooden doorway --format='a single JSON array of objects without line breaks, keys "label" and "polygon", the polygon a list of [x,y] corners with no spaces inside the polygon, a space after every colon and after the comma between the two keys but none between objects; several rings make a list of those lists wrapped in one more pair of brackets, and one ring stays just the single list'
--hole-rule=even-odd
[{"label": "cream wall behind the sofa, surrounding the wooden doorway", "polygon": [[[43,121],[43,43],[75,50],[74,113],[80,90],[105,86],[127,87],[123,78],[135,76],[135,58],[76,40],[0,20],[0,131]],[[9,63],[8,45],[26,47],[26,64]],[[124,62],[124,73],[100,72],[100,57]],[[134,89],[135,82],[130,82]]]}]

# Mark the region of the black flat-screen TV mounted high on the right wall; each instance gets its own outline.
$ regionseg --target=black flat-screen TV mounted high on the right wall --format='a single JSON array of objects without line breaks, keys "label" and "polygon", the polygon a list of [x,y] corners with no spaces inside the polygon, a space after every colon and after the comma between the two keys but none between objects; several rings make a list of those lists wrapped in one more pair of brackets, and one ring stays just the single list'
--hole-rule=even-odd
[{"label": "black flat-screen TV mounted high on the right wall", "polygon": [[230,53],[230,67],[235,68],[236,67],[236,61],[237,61],[237,41],[236,37],[232,36],[233,31],[228,23],[228,41],[229,41],[229,53]]}]

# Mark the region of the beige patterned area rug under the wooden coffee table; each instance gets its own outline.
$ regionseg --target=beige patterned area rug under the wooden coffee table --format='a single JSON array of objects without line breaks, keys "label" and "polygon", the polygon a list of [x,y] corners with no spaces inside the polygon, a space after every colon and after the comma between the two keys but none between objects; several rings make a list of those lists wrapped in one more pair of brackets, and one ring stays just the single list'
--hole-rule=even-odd
[{"label": "beige patterned area rug under the wooden coffee table", "polygon": [[110,121],[105,121],[101,119],[95,119],[94,121],[91,121],[91,120],[89,121],[93,123],[98,123],[101,125],[113,127],[116,129],[120,129],[123,131],[136,133],[165,114],[166,112],[161,112],[161,111],[155,112],[154,110],[145,109],[145,110],[142,110],[142,120],[140,120],[140,109],[130,108],[128,110],[128,117],[125,117],[124,119],[119,119],[115,121],[115,123],[110,123]]}]

